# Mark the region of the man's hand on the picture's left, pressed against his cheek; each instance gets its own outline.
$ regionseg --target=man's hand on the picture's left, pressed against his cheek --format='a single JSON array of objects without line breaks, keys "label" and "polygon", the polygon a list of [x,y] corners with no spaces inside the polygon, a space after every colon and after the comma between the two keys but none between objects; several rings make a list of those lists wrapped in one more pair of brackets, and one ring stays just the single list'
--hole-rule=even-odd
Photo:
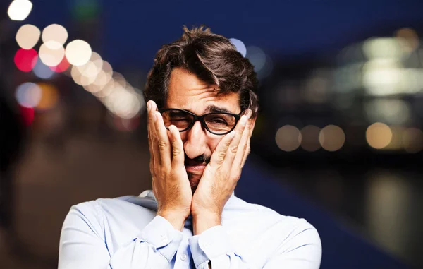
[{"label": "man's hand on the picture's left, pressed against his cheek", "polygon": [[183,142],[178,128],[164,126],[157,104],[147,102],[148,141],[152,187],[157,199],[157,215],[182,231],[190,215],[192,191],[184,165]]}]

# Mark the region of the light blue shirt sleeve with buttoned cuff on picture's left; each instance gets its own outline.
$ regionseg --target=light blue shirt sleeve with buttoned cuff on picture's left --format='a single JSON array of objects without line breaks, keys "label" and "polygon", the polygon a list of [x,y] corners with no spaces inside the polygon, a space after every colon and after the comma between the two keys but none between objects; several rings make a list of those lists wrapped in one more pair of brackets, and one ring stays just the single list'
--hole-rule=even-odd
[{"label": "light blue shirt sleeve with buttoned cuff on picture's left", "polygon": [[61,231],[59,269],[168,268],[182,232],[157,216],[133,241],[109,253],[100,210],[96,201],[71,208]]}]

